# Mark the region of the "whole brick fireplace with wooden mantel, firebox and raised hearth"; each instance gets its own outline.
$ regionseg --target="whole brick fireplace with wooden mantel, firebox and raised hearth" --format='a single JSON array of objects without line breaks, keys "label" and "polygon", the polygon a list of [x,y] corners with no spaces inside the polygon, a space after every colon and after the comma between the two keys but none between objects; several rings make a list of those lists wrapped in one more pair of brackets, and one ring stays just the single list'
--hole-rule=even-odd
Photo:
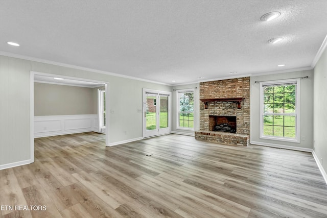
[{"label": "whole brick fireplace with wooden mantel, firebox and raised hearth", "polygon": [[[230,131],[231,129],[235,131]],[[200,130],[195,132],[195,138],[248,146],[249,77],[200,83]]]}]

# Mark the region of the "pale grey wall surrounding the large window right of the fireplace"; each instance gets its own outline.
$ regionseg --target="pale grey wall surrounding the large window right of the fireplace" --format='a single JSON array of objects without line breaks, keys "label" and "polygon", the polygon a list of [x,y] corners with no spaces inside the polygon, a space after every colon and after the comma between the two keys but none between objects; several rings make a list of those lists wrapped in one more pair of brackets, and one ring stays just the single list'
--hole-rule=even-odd
[{"label": "pale grey wall surrounding the large window right of the fireplace", "polygon": [[[261,139],[260,136],[260,85],[255,81],[283,80],[309,76],[300,80],[300,143]],[[251,77],[250,98],[250,142],[253,144],[273,145],[278,147],[297,147],[304,151],[313,148],[313,70],[295,71],[283,74]]]}]

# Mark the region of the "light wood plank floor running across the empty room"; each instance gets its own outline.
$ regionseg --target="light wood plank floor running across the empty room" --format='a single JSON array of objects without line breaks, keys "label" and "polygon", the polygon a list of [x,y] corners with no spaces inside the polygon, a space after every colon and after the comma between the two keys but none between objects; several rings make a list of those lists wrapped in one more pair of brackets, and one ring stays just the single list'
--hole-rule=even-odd
[{"label": "light wood plank floor running across the empty room", "polygon": [[[0,217],[327,217],[311,153],[165,135],[104,146],[104,135],[35,139],[35,162],[0,171]],[[147,156],[152,154],[152,156]]]}]

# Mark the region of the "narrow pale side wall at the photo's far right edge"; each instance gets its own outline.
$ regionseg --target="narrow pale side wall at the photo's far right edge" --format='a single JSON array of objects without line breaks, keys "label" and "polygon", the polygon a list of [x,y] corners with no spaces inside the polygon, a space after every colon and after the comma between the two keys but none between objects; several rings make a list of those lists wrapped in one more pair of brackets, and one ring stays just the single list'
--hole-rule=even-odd
[{"label": "narrow pale side wall at the photo's far right edge", "polygon": [[314,153],[327,172],[327,49],[314,68]]}]

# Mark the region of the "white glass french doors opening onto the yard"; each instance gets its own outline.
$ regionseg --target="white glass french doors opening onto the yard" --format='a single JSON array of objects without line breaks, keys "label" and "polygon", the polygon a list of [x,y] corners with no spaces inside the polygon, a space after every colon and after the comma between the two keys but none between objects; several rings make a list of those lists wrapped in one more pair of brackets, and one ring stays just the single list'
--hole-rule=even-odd
[{"label": "white glass french doors opening onto the yard", "polygon": [[171,92],[143,89],[143,137],[171,132]]}]

